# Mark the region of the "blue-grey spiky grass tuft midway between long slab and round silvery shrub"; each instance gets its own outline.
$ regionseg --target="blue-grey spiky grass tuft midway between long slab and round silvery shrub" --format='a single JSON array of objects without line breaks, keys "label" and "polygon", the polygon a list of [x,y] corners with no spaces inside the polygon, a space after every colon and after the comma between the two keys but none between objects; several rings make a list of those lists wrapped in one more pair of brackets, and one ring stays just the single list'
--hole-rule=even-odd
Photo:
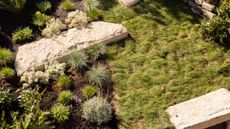
[{"label": "blue-grey spiky grass tuft midway between long slab and round silvery shrub", "polygon": [[109,71],[105,66],[99,65],[97,67],[93,66],[90,71],[87,72],[89,81],[100,86],[101,88],[108,84],[109,82]]}]

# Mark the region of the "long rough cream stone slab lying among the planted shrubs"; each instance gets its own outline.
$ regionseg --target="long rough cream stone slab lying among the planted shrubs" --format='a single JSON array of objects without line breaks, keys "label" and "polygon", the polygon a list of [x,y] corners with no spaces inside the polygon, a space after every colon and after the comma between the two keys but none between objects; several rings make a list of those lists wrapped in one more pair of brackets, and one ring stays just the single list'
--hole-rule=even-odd
[{"label": "long rough cream stone slab lying among the planted shrubs", "polygon": [[73,50],[85,49],[97,43],[112,43],[128,36],[120,24],[92,22],[83,29],[70,29],[53,38],[43,38],[18,48],[15,66],[18,75],[28,70],[40,70],[48,61],[66,60]]}]

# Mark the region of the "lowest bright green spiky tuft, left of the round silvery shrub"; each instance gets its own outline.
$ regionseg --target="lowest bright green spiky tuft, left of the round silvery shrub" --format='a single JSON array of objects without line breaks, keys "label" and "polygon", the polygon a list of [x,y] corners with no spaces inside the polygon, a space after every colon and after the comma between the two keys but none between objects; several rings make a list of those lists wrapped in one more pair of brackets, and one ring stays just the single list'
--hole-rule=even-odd
[{"label": "lowest bright green spiky tuft, left of the round silvery shrub", "polygon": [[63,104],[55,104],[52,108],[51,108],[51,114],[54,118],[55,121],[57,121],[58,123],[62,123],[65,122],[66,120],[68,120],[70,112],[69,112],[69,107],[65,106]]}]

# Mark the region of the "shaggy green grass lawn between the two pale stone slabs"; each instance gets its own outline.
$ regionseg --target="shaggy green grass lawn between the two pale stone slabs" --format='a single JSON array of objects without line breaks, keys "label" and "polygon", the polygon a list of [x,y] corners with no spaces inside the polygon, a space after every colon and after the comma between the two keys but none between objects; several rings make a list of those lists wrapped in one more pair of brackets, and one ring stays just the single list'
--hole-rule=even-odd
[{"label": "shaggy green grass lawn between the two pale stone slabs", "polygon": [[144,0],[133,8],[102,0],[105,21],[132,38],[109,46],[121,128],[173,128],[165,109],[230,88],[230,52],[203,41],[201,18],[179,0]]}]

